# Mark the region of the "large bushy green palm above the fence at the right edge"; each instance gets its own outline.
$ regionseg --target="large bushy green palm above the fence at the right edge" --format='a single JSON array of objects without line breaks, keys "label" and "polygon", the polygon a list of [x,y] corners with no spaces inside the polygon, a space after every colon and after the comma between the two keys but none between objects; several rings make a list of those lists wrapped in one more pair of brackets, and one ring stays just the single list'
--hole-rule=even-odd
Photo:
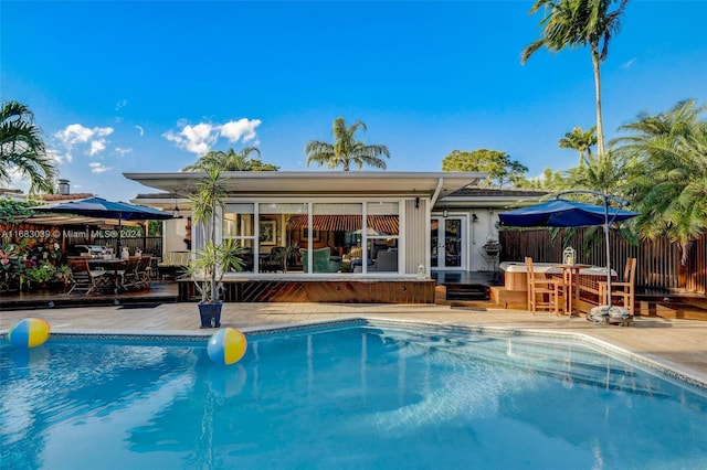
[{"label": "large bushy green palm above the fence at the right edge", "polygon": [[667,113],[639,115],[615,139],[629,163],[625,191],[641,212],[636,225],[644,238],[666,235],[677,243],[682,263],[707,232],[707,105],[679,102]]}]

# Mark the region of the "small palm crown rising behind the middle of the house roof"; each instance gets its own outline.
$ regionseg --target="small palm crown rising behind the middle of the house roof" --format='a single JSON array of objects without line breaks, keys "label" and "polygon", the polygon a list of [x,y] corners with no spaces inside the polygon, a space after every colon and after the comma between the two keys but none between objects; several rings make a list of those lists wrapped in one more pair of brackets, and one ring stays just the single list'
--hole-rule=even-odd
[{"label": "small palm crown rising behind the middle of the house roof", "polygon": [[347,128],[344,118],[337,118],[334,121],[334,143],[312,140],[305,147],[307,165],[312,162],[319,165],[326,164],[329,169],[341,165],[344,171],[349,171],[351,163],[355,163],[359,170],[363,164],[384,170],[386,161],[380,157],[390,158],[388,147],[380,145],[367,146],[360,140],[356,140],[355,133],[359,128],[367,130],[366,125],[361,121],[357,121]]}]

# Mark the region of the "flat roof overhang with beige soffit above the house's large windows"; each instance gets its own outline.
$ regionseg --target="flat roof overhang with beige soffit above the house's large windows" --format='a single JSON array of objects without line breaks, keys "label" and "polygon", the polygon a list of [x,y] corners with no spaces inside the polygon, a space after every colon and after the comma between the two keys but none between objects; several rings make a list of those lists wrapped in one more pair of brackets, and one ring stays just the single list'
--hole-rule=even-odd
[{"label": "flat roof overhang with beige soffit above the house's large windows", "polygon": [[[145,186],[188,195],[203,172],[123,173]],[[226,171],[221,173],[231,195],[391,195],[450,194],[486,178],[485,172],[394,171]],[[143,200],[143,199],[141,199]],[[173,202],[173,201],[172,201]]]}]

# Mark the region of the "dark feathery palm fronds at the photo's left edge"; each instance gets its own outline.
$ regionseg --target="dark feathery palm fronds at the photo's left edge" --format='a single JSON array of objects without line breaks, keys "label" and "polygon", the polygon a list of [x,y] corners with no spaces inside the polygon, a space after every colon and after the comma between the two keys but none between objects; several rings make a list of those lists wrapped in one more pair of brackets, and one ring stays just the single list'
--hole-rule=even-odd
[{"label": "dark feathery palm fronds at the photo's left edge", "polygon": [[18,102],[6,102],[0,110],[0,182],[12,173],[30,179],[30,193],[52,192],[56,164],[48,157],[34,115]]}]

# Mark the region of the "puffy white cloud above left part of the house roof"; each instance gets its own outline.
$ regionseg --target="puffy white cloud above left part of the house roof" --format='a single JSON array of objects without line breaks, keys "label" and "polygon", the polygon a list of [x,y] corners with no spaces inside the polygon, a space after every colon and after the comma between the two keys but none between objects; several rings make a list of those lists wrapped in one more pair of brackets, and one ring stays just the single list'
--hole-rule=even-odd
[{"label": "puffy white cloud above left part of the house roof", "polygon": [[231,143],[249,142],[255,139],[255,128],[260,125],[260,119],[246,118],[224,125],[200,122],[194,126],[180,120],[177,122],[181,128],[179,132],[169,130],[162,133],[162,137],[175,142],[180,149],[201,156],[211,150],[220,137],[224,137]]}]

